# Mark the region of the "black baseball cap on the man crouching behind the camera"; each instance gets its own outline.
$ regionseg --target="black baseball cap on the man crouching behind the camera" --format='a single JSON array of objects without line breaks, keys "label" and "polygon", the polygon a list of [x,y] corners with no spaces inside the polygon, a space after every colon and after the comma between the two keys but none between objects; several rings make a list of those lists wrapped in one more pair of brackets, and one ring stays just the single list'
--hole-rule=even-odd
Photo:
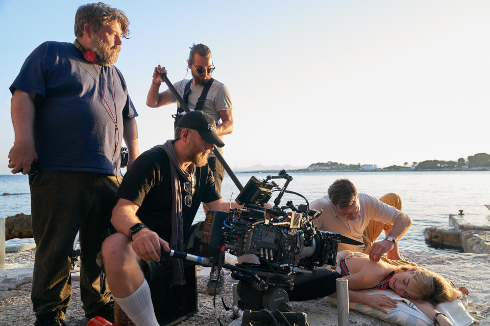
[{"label": "black baseball cap on the man crouching behind the camera", "polygon": [[225,146],[225,143],[216,133],[214,119],[200,110],[186,113],[177,122],[177,127],[197,130],[206,143],[214,144],[217,147]]}]

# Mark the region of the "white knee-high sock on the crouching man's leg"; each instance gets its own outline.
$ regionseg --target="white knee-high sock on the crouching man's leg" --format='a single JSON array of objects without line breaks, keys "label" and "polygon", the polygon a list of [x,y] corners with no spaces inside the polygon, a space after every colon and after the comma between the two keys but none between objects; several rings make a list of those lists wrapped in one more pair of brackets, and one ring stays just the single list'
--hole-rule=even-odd
[{"label": "white knee-high sock on the crouching man's leg", "polygon": [[150,286],[146,280],[127,297],[113,297],[136,326],[159,326],[153,310]]}]

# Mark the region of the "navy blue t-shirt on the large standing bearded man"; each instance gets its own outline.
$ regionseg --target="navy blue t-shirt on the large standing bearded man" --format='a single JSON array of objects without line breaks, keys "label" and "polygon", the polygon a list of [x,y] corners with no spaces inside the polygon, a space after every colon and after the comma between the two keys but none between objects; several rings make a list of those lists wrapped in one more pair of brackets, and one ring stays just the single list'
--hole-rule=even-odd
[{"label": "navy blue t-shirt on the large standing bearded man", "polygon": [[48,41],[24,62],[16,89],[36,94],[38,168],[120,175],[122,121],[138,114],[116,67],[86,62],[72,43]]}]

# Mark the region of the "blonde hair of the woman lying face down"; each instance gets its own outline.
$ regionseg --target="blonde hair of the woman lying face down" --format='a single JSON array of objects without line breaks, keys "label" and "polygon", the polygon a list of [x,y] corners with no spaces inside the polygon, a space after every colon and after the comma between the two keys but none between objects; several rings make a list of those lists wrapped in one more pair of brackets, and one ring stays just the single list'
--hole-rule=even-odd
[{"label": "blonde hair of the woman lying face down", "polygon": [[453,301],[461,296],[461,292],[456,290],[444,277],[426,268],[400,265],[395,269],[395,273],[411,268],[415,268],[412,273],[412,282],[420,292],[420,301],[429,302],[435,307],[442,302]]}]

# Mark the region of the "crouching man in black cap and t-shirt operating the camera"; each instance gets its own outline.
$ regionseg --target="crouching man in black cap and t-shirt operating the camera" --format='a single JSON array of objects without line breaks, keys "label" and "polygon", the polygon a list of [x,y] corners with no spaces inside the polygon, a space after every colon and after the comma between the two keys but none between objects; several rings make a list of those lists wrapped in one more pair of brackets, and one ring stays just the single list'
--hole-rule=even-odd
[{"label": "crouching man in black cap and t-shirt operating the camera", "polygon": [[[111,223],[117,233],[103,243],[104,267],[114,300],[137,326],[158,325],[139,262],[160,261],[161,247],[185,250],[193,242],[188,240],[201,202],[209,209],[229,210],[206,164],[213,144],[224,146],[214,120],[202,111],[187,113],[179,120],[175,139],[142,153],[116,193]],[[182,260],[171,258],[167,265],[170,286],[185,284]]]}]

